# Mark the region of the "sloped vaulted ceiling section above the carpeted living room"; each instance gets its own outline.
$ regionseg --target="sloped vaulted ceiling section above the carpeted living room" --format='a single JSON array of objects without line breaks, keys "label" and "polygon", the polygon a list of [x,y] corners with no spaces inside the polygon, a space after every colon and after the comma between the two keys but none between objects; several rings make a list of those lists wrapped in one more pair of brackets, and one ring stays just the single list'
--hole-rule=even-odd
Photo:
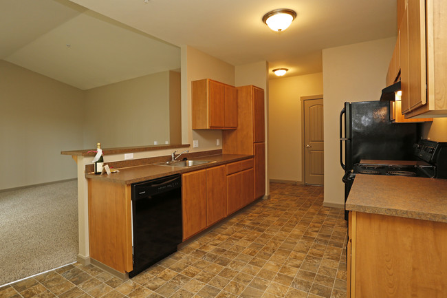
[{"label": "sloped vaulted ceiling section above the carpeted living room", "polygon": [[0,0],[0,59],[80,89],[180,67],[179,47],[67,0]]}]

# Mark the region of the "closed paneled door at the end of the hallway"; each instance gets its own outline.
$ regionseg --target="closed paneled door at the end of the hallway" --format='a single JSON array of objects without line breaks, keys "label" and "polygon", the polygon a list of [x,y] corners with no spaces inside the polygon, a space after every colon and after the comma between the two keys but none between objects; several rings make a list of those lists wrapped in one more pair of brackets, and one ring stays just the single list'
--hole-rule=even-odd
[{"label": "closed paneled door at the end of the hallway", "polygon": [[303,183],[324,183],[323,95],[301,97]]}]

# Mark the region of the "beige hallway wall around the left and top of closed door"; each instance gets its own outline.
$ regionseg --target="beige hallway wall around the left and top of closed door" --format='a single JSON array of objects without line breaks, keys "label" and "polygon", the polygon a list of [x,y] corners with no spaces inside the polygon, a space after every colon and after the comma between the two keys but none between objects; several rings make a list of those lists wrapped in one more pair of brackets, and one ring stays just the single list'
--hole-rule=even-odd
[{"label": "beige hallway wall around the left and top of closed door", "polygon": [[301,96],[323,94],[323,73],[269,81],[270,179],[303,181]]}]

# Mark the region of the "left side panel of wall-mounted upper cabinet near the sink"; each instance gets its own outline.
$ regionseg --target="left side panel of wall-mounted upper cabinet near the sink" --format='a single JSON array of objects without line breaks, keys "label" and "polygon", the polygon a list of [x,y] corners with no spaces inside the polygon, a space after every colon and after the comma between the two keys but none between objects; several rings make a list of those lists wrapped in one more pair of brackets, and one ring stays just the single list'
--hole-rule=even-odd
[{"label": "left side panel of wall-mounted upper cabinet near the sink", "polygon": [[208,83],[206,78],[191,82],[193,129],[208,128]]}]

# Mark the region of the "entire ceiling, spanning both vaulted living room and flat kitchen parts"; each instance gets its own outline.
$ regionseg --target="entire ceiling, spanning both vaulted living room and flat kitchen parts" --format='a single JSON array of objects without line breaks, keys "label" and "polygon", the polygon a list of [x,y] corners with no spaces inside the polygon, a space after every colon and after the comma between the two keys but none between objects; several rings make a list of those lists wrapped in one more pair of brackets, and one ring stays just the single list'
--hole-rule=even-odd
[{"label": "entire ceiling, spanning both vaulted living room and flat kitchen parts", "polygon": [[[176,70],[182,45],[296,76],[323,71],[322,49],[397,32],[395,0],[70,1],[0,0],[0,59],[80,89]],[[261,21],[277,8],[298,14],[281,33]]]}]

